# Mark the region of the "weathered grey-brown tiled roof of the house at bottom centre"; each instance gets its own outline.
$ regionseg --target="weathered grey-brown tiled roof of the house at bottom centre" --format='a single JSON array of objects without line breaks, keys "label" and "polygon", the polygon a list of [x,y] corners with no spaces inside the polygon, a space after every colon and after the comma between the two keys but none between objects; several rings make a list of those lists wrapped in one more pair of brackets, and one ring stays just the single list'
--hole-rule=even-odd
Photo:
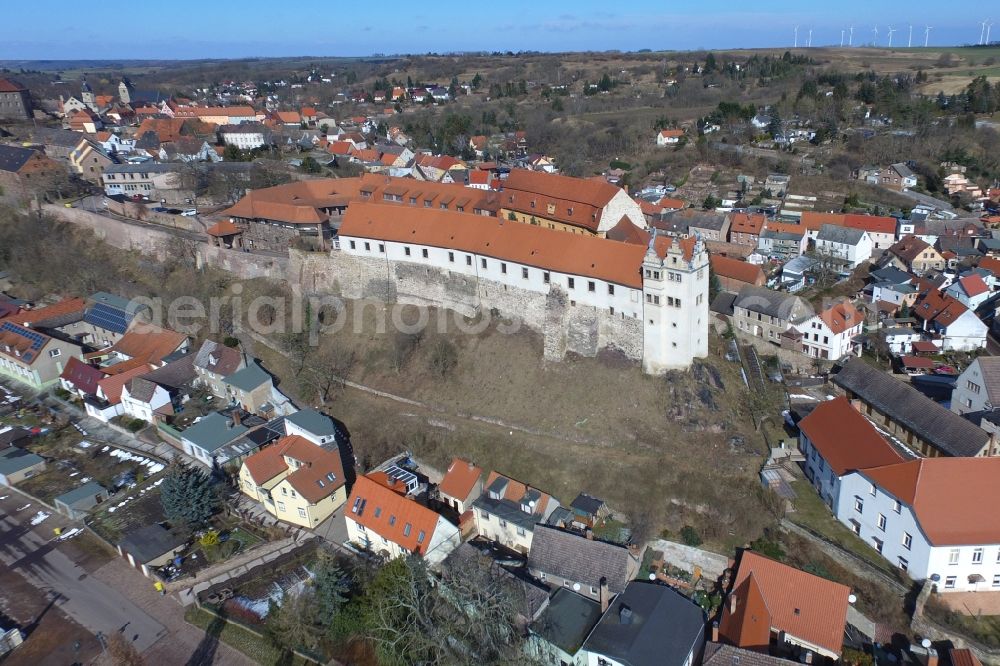
[{"label": "weathered grey-brown tiled roof of the house at bottom centre", "polygon": [[535,527],[528,552],[529,569],[592,587],[598,587],[605,578],[614,594],[625,589],[633,560],[625,546],[549,525]]}]

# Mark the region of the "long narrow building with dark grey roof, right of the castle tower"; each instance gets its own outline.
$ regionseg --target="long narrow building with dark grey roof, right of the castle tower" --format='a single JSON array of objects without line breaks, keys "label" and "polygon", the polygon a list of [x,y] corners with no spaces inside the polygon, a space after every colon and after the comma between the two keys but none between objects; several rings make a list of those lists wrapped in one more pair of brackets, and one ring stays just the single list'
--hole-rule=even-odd
[{"label": "long narrow building with dark grey roof, right of the castle tower", "polygon": [[862,414],[917,455],[1000,453],[989,433],[860,359],[850,359],[832,379]]}]

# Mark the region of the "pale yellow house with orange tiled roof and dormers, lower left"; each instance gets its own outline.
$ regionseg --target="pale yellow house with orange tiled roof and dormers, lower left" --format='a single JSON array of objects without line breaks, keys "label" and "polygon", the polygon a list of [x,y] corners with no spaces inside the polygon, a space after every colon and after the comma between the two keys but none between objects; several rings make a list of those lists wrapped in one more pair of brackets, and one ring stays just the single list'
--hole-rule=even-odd
[{"label": "pale yellow house with orange tiled roof and dormers, lower left", "polygon": [[268,513],[314,528],[347,501],[340,452],[304,437],[283,437],[253,454],[240,469],[240,490]]}]

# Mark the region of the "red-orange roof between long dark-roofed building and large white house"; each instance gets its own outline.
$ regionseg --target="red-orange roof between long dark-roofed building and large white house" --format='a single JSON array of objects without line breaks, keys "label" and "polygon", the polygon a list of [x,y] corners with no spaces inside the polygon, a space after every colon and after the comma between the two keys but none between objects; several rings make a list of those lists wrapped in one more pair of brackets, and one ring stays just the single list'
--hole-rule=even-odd
[{"label": "red-orange roof between long dark-roofed building and large white house", "polygon": [[905,460],[843,396],[820,403],[799,429],[837,476]]}]

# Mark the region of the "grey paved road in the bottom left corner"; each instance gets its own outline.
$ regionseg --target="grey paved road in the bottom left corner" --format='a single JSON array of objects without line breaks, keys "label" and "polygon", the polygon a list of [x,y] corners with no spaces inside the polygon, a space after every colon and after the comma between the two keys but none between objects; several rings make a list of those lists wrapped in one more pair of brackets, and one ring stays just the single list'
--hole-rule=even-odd
[{"label": "grey paved road in the bottom left corner", "polygon": [[[166,635],[162,624],[119,592],[89,576],[60,552],[52,529],[65,525],[53,516],[38,526],[31,518],[43,507],[4,487],[0,497],[0,562],[40,590],[58,594],[57,605],[87,630],[106,636],[122,631],[139,651]],[[18,509],[22,509],[18,511]]]}]

